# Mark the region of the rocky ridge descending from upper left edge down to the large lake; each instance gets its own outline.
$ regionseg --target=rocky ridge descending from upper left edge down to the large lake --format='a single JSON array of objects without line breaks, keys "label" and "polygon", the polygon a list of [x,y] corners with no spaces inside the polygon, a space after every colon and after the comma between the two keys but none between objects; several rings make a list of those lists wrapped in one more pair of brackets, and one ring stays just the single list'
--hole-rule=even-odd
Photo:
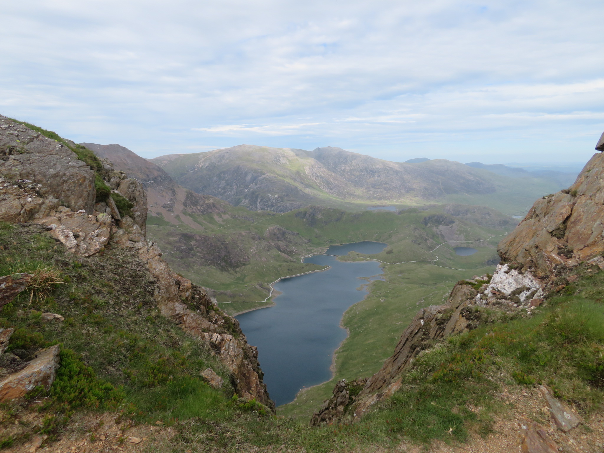
[{"label": "rocky ridge descending from upper left edge down to the large lake", "polygon": [[[84,257],[109,245],[135,254],[156,281],[154,296],[162,315],[210,345],[233,373],[241,397],[274,410],[257,350],[247,343],[237,320],[223,313],[202,288],[173,272],[159,247],[147,242],[143,184],[115,171],[106,159],[100,162],[102,169],[95,174],[68,146],[0,116],[0,221],[46,225],[70,252]],[[130,215],[120,214],[111,197],[95,202],[98,177],[132,204]]]}]

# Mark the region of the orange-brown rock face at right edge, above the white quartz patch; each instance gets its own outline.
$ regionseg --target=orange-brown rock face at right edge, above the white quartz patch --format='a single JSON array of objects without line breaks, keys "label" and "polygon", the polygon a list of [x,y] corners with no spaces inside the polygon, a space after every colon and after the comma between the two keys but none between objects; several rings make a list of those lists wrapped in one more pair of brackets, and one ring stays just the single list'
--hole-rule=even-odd
[{"label": "orange-brown rock face at right edge, above the white quartz patch", "polygon": [[604,155],[596,154],[568,190],[535,202],[498,251],[548,277],[604,252]]}]

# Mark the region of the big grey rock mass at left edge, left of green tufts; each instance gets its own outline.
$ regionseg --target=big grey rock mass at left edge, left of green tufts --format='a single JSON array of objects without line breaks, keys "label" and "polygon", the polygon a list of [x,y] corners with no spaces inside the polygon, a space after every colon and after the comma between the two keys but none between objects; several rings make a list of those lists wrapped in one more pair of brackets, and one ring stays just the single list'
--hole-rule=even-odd
[{"label": "big grey rock mass at left edge, left of green tufts", "polygon": [[0,115],[0,220],[27,222],[59,204],[92,213],[94,172],[76,153]]}]

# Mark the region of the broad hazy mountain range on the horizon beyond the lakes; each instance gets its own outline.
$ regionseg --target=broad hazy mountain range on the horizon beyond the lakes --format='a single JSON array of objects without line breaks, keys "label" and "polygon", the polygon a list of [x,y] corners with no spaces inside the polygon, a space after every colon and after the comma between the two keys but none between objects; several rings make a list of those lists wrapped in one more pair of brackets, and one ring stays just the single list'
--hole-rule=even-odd
[{"label": "broad hazy mountain range on the horizon beyond the lakes", "polygon": [[310,204],[359,209],[456,202],[512,214],[561,188],[541,176],[519,179],[446,159],[412,160],[384,161],[335,147],[306,151],[254,145],[150,159],[196,193],[275,212]]}]

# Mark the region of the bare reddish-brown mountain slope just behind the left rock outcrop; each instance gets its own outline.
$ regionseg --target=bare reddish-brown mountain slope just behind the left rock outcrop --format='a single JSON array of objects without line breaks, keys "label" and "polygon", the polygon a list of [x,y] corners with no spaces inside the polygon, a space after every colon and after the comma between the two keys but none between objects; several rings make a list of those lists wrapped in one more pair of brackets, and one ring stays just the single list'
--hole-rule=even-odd
[{"label": "bare reddish-brown mountain slope just behind the left rock outcrop", "polygon": [[194,193],[176,184],[158,165],[143,159],[126,147],[118,144],[82,143],[82,145],[94,151],[97,156],[108,159],[114,164],[114,169],[125,172],[143,183],[147,191],[149,214],[152,216],[163,217],[171,223],[179,223],[178,219],[181,219],[184,223],[194,226],[196,223],[188,217],[187,213],[207,214],[224,211],[225,203],[222,200]]}]

